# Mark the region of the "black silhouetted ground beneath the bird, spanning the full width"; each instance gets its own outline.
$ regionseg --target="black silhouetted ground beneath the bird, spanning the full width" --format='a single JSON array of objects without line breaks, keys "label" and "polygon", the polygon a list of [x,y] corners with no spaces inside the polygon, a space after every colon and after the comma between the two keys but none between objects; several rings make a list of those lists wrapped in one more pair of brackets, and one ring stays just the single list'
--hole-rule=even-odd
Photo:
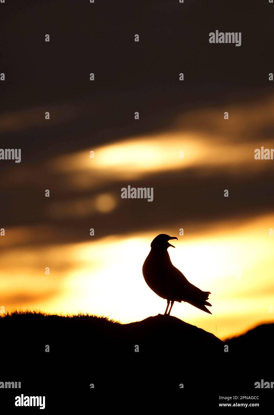
[{"label": "black silhouetted ground beneath the bird, spanning the full width", "polygon": [[0,318],[0,332],[5,339],[1,344],[5,356],[2,373],[8,377],[10,362],[16,374],[20,370],[26,374],[27,362],[28,373],[39,370],[40,376],[41,372],[57,371],[80,379],[79,387],[95,378],[102,388],[112,382],[117,388],[123,384],[130,389],[130,378],[134,388],[154,385],[157,389],[158,380],[164,380],[167,387],[169,379],[170,388],[178,388],[184,381],[194,390],[197,382],[206,378],[203,387],[210,389],[218,387],[221,378],[223,387],[238,383],[239,387],[254,388],[255,381],[273,377],[274,324],[258,326],[222,342],[205,330],[166,315],[120,324],[90,315],[17,312]]}]

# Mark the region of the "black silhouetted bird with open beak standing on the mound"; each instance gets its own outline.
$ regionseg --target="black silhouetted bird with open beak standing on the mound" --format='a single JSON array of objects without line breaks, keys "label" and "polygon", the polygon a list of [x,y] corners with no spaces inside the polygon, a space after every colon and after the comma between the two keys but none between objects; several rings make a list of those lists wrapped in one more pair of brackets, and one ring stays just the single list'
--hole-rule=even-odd
[{"label": "black silhouetted bird with open beak standing on the mound", "polygon": [[[150,253],[143,263],[143,276],[145,282],[157,295],[167,300],[165,314],[170,315],[174,301],[181,303],[185,301],[194,307],[199,308],[211,314],[205,305],[211,306],[206,300],[209,298],[209,291],[201,291],[195,287],[184,276],[184,274],[175,268],[167,252],[168,247],[175,248],[168,241],[177,239],[166,234],[156,236],[150,244]],[[167,313],[168,307],[171,306]]]}]

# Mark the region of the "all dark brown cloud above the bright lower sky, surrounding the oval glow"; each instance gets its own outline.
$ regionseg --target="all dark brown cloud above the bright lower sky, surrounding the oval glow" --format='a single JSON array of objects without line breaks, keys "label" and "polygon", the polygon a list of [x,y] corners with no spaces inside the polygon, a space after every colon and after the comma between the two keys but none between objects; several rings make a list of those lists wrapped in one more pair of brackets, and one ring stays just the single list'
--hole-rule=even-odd
[{"label": "all dark brown cloud above the bright lower sky, surrounding the oval glow", "polygon": [[[0,84],[1,113],[6,122],[10,120],[1,130],[1,146],[22,149],[19,177],[15,172],[19,166],[0,163],[7,178],[1,183],[1,227],[49,227],[54,236],[36,235],[37,244],[59,243],[87,240],[90,227],[97,229],[99,238],[273,210],[272,166],[254,174],[243,170],[238,177],[221,167],[195,166],[75,192],[66,175],[43,164],[57,155],[171,129],[176,117],[182,117],[182,131],[196,122],[196,132],[214,135],[218,125],[210,115],[195,120],[198,108],[220,108],[223,114],[220,105],[251,99],[256,104],[262,95],[271,95],[274,84],[268,73],[274,55],[268,51],[273,49],[274,28],[267,2],[258,7],[255,1],[233,0],[224,12],[217,0],[139,1],[134,7],[121,0],[92,5],[29,0],[24,5],[5,4],[1,15],[5,39],[1,71],[6,74]],[[255,21],[261,22],[259,26]],[[209,44],[209,32],[217,28],[241,31],[242,46]],[[138,44],[133,40],[136,33]],[[48,44],[45,34],[50,34]],[[95,73],[94,82],[90,72]],[[178,81],[180,72],[185,74],[183,83]],[[47,110],[50,121],[44,120]],[[138,122],[133,119],[136,110],[141,115]],[[247,119],[242,123],[247,125]],[[236,130],[220,140],[235,139]],[[237,140],[264,139],[273,131],[269,121],[252,129],[252,134],[238,134]],[[153,203],[120,200],[121,187],[127,184],[153,187]],[[51,189],[51,198],[45,201],[46,188]],[[224,188],[229,189],[229,198],[223,197]],[[117,195],[119,204],[113,212],[63,220],[47,213],[46,203],[70,203],[99,192]]]}]

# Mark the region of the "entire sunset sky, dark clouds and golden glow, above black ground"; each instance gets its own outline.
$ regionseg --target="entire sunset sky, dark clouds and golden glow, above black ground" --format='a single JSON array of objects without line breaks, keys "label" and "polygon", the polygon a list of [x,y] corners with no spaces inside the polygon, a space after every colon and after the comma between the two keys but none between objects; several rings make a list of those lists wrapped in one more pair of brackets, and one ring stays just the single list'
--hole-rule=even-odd
[{"label": "entire sunset sky, dark clouds and golden glow, above black ground", "polygon": [[[274,146],[271,14],[255,32],[238,2],[226,13],[199,2],[195,27],[195,2],[183,13],[121,2],[124,15],[115,2],[55,3],[7,7],[1,23],[1,148],[22,160],[0,163],[0,307],[124,323],[164,313],[142,265],[166,233],[178,237],[173,264],[212,304],[209,315],[175,303],[172,315],[222,339],[273,321],[274,160],[254,159]],[[231,21],[242,45],[209,44]],[[153,202],[122,199],[129,185],[153,187]]]}]

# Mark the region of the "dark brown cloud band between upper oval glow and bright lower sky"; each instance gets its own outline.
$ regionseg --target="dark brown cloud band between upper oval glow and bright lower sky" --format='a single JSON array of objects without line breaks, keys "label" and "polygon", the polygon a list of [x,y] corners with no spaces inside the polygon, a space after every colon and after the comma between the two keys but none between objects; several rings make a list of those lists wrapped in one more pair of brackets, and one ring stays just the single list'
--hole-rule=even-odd
[{"label": "dark brown cloud band between upper oval glow and bright lower sky", "polygon": [[[174,227],[191,228],[195,224],[212,224],[224,220],[245,220],[248,217],[273,212],[274,195],[272,175],[269,170],[256,174],[231,175],[222,168],[206,170],[201,174],[199,168],[182,171],[165,171],[145,178],[131,181],[119,181],[104,185],[99,192],[112,193],[118,199],[117,207],[110,213],[93,213],[81,217],[74,215],[54,219],[46,214],[44,193],[40,189],[27,187],[17,191],[12,205],[4,201],[2,223],[8,226],[48,227],[48,234],[35,233],[36,243],[64,243],[90,240],[89,229],[95,228],[94,239],[109,234],[135,233],[155,228],[170,229]],[[273,168],[271,169],[273,171]],[[121,199],[121,188],[153,187],[154,200]],[[224,190],[229,190],[229,197],[224,197]],[[79,195],[82,198],[95,197],[96,192],[80,192],[60,195],[58,199],[75,203]],[[49,198],[50,199],[50,198]],[[7,199],[6,199],[7,200]],[[24,203],[22,203],[24,200]],[[6,209],[5,209],[6,208]],[[30,228],[31,231],[31,228]],[[30,242],[33,243],[32,238]]]}]

